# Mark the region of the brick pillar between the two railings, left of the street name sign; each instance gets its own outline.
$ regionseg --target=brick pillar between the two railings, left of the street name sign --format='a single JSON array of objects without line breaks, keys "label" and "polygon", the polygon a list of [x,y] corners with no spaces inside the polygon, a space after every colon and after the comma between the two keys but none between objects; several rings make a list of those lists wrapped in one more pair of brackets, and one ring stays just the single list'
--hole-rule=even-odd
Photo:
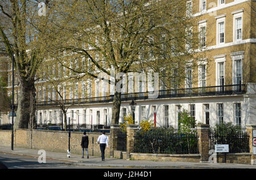
[{"label": "brick pillar between the two railings, left of the street name sign", "polygon": [[197,135],[199,136],[200,162],[209,161],[209,125],[196,125]]}]

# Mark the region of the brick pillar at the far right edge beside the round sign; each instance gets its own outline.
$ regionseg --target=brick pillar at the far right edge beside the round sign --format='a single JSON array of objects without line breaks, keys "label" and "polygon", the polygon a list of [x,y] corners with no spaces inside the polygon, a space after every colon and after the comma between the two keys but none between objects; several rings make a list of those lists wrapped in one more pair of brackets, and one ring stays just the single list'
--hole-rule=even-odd
[{"label": "brick pillar at the far right edge beside the round sign", "polygon": [[[249,147],[251,155],[251,165],[256,165],[256,145],[253,144],[253,139],[256,139],[256,125],[246,125],[246,132],[249,137]],[[254,133],[253,133],[254,132]]]}]

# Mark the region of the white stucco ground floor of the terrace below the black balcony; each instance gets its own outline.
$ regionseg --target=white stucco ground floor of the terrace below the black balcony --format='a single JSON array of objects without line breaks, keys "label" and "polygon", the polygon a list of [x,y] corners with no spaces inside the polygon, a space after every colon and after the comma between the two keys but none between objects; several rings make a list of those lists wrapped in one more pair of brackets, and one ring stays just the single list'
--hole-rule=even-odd
[{"label": "white stucco ground floor of the terrace below the black balcony", "polygon": [[[119,123],[127,114],[131,114],[131,101],[122,101]],[[184,98],[157,98],[136,100],[135,122],[148,119],[156,126],[177,126],[179,113],[188,110],[197,123],[215,126],[220,122],[232,122],[234,125],[256,124],[255,95],[204,96]],[[112,119],[112,102],[79,104],[67,106],[67,118],[71,123],[110,125]],[[36,119],[40,123],[61,123],[63,113],[60,108],[51,105],[40,106],[36,110]]]}]

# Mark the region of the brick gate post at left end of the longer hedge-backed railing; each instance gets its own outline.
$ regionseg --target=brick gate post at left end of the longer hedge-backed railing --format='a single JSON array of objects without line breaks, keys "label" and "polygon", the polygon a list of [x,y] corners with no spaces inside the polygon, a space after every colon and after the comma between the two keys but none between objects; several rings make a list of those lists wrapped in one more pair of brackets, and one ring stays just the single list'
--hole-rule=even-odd
[{"label": "brick gate post at left end of the longer hedge-backed railing", "polygon": [[138,130],[138,125],[126,125],[127,127],[127,147],[126,160],[130,160],[131,153],[134,151],[134,136]]}]

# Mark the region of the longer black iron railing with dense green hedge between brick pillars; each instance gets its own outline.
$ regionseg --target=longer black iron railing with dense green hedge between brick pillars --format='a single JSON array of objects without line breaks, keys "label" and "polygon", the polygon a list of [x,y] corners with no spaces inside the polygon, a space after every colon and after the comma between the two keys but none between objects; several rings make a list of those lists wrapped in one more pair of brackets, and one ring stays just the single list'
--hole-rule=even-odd
[{"label": "longer black iron railing with dense green hedge between brick pillars", "polygon": [[168,131],[138,131],[134,139],[134,152],[164,154],[197,154],[196,133],[181,134]]}]

